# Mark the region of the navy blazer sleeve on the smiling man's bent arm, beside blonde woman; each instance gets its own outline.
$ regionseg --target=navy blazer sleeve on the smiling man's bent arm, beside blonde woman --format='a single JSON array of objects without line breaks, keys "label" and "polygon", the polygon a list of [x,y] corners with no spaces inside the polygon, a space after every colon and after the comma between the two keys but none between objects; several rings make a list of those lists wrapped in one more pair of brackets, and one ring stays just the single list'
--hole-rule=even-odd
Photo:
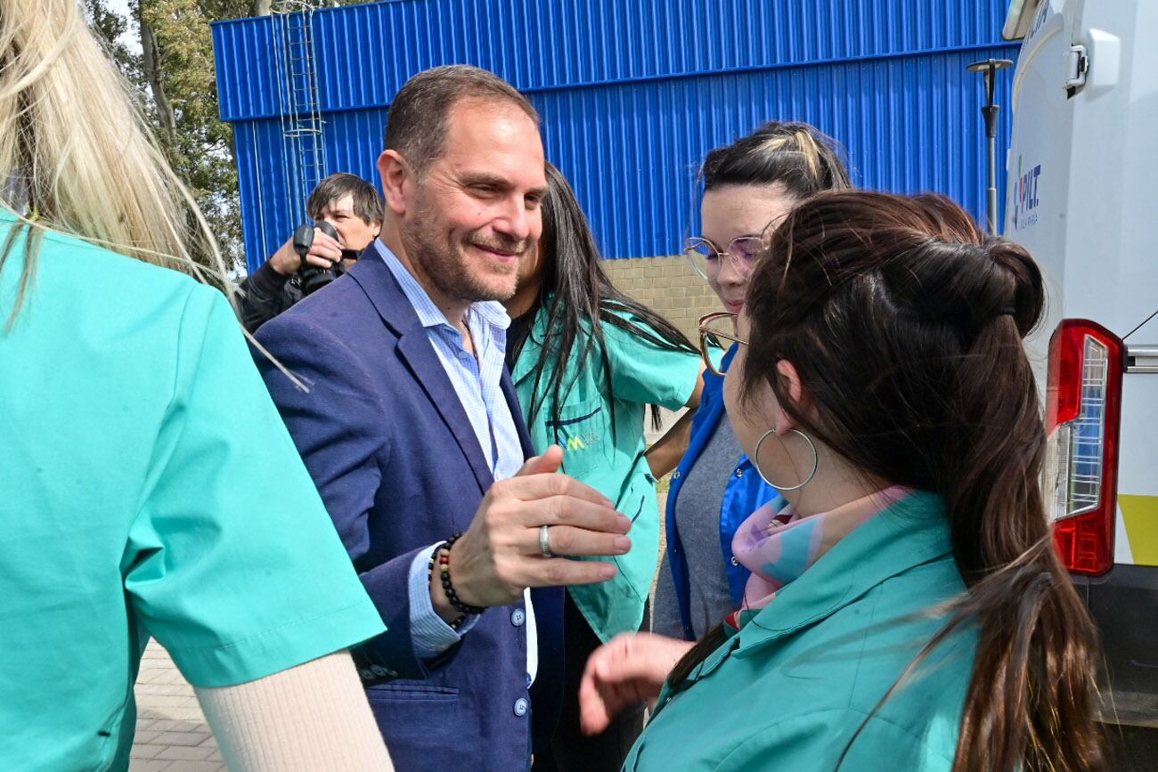
[{"label": "navy blazer sleeve on the smiling man's bent arm, beside blonde woman", "polygon": [[[410,630],[409,569],[422,546],[378,565],[365,565],[369,513],[389,462],[386,414],[373,381],[354,353],[323,325],[283,315],[262,326],[257,341],[305,388],[255,351],[262,377],[358,569],[387,632],[353,650],[362,678],[424,678]],[[452,653],[448,653],[450,655]],[[445,660],[430,663],[432,667]]]}]

